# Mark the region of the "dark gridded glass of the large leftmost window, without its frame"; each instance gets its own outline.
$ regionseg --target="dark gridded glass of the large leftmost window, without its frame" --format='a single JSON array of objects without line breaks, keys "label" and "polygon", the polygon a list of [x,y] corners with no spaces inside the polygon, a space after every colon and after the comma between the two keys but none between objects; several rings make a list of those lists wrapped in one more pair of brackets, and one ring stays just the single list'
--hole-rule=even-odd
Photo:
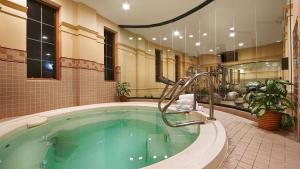
[{"label": "dark gridded glass of the large leftmost window, without its frame", "polygon": [[27,0],[27,77],[56,78],[56,9]]}]

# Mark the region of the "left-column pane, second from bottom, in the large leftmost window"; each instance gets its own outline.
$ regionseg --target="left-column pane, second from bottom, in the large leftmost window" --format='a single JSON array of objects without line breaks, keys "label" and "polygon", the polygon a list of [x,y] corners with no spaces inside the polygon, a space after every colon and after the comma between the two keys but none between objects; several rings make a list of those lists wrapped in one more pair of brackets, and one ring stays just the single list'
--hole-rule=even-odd
[{"label": "left-column pane, second from bottom, in the large leftmost window", "polygon": [[41,60],[41,43],[27,39],[27,58]]}]

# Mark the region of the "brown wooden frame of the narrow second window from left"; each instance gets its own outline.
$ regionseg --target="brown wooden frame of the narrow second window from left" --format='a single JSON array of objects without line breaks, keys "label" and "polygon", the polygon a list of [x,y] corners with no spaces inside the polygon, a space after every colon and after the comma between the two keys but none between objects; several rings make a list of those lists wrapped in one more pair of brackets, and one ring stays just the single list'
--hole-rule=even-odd
[{"label": "brown wooden frame of the narrow second window from left", "polygon": [[[105,53],[105,48],[106,48],[106,43],[105,43],[105,32],[109,32],[111,34],[113,34],[113,40],[112,40],[112,80],[106,79],[106,68],[105,68],[105,57],[106,57],[106,53]],[[103,55],[103,62],[104,62],[104,81],[107,82],[115,82],[116,81],[116,75],[115,75],[115,65],[116,65],[116,36],[117,33],[115,31],[113,31],[110,28],[104,27],[104,55]]]}]

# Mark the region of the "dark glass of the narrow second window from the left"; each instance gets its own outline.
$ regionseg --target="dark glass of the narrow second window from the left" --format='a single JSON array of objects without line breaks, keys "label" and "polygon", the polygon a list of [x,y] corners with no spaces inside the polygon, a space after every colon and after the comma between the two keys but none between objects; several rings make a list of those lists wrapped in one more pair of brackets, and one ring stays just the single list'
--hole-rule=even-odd
[{"label": "dark glass of the narrow second window from the left", "polygon": [[115,34],[104,30],[104,72],[105,80],[114,80],[114,43]]}]

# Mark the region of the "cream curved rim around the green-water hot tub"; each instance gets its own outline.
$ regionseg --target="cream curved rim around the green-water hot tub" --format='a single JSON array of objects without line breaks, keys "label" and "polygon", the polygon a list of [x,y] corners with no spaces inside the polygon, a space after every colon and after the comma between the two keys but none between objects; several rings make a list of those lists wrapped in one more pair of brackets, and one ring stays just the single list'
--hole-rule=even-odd
[{"label": "cream curved rim around the green-water hot tub", "polygon": [[[68,107],[56,110],[45,111],[27,116],[17,117],[8,121],[0,122],[0,139],[24,126],[35,126],[47,122],[48,118],[59,115],[67,115],[76,111],[95,108],[138,106],[157,107],[156,103],[149,102],[115,102]],[[228,149],[228,141],[225,129],[219,121],[208,121],[200,125],[201,134],[197,139],[183,151],[176,155],[146,166],[143,169],[199,169],[219,168],[222,164]]]}]

